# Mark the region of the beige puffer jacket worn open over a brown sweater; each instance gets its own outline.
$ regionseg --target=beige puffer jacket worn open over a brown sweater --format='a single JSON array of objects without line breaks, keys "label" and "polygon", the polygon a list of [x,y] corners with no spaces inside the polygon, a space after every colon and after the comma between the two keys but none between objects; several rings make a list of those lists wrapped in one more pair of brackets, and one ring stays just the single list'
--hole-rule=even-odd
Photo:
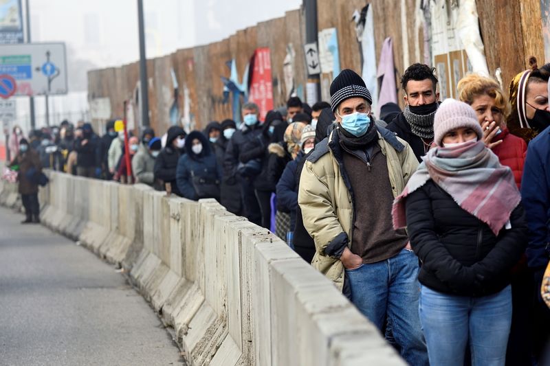
[{"label": "beige puffer jacket worn open over a brown sweater", "polygon": [[[418,161],[412,148],[393,133],[379,128],[377,134],[377,144],[386,157],[392,193],[397,197],[417,169]],[[298,204],[304,226],[315,242],[312,266],[342,290],[344,265],[333,255],[341,253],[345,246],[351,247],[355,211],[353,190],[335,131],[316,145],[307,158],[300,176]]]}]

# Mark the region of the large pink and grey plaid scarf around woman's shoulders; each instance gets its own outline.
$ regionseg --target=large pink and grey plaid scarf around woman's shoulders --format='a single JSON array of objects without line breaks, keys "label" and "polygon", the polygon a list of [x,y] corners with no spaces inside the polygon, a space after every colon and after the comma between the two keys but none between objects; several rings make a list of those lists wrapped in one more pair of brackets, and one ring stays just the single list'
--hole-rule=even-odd
[{"label": "large pink and grey plaid scarf around woman's shoulders", "polygon": [[432,179],[465,211],[485,222],[497,236],[521,201],[510,168],[483,141],[428,151],[405,190],[393,202],[393,227],[406,227],[406,198]]}]

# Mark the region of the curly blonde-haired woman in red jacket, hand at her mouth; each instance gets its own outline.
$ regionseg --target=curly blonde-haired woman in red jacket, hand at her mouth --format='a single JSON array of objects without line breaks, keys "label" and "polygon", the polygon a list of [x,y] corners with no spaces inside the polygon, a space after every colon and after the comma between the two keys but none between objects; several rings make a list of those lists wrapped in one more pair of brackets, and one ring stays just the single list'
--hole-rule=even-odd
[{"label": "curly blonde-haired woman in red jacket, hand at her mouth", "polygon": [[478,74],[470,74],[459,81],[459,98],[470,104],[483,128],[483,139],[502,165],[509,166],[518,188],[521,187],[527,144],[509,133],[505,115],[509,103],[498,83]]}]

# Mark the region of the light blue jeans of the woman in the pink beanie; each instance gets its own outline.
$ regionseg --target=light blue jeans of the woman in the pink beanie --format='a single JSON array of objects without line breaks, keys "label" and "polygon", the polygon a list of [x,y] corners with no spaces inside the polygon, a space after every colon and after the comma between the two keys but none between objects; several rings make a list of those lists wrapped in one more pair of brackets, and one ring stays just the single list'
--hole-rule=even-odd
[{"label": "light blue jeans of the woman in the pink beanie", "polygon": [[511,288],[484,297],[455,296],[421,286],[420,321],[431,365],[504,365],[511,324]]}]

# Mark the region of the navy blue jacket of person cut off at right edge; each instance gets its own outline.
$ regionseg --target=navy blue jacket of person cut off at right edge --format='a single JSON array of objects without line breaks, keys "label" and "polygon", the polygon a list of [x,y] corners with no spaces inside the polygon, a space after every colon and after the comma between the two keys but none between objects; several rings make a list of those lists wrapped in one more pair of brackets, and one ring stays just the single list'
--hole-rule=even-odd
[{"label": "navy blue jacket of person cut off at right edge", "polygon": [[529,267],[543,270],[550,256],[550,128],[529,142],[521,181],[529,226]]}]

